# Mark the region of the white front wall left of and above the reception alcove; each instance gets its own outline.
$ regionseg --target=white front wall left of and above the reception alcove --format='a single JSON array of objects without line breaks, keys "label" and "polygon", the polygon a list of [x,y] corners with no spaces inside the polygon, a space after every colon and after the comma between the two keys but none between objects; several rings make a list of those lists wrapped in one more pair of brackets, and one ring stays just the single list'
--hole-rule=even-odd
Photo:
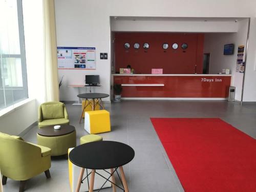
[{"label": "white front wall left of and above the reception alcove", "polygon": [[59,70],[59,78],[65,75],[60,99],[76,100],[77,93],[67,85],[82,84],[85,74],[99,74],[99,91],[110,93],[110,59],[99,59],[100,52],[110,55],[110,16],[253,17],[255,7],[254,0],[55,0],[57,46],[96,47],[97,57],[95,71]]}]

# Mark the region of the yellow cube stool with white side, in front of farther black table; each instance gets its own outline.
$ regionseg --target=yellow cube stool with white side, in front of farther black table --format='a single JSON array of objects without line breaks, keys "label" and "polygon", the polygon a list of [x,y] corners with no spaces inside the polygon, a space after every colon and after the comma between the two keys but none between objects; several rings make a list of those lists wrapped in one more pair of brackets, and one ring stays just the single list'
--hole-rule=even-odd
[{"label": "yellow cube stool with white side, in front of farther black table", "polygon": [[110,113],[106,110],[85,112],[84,129],[90,134],[110,132]]}]

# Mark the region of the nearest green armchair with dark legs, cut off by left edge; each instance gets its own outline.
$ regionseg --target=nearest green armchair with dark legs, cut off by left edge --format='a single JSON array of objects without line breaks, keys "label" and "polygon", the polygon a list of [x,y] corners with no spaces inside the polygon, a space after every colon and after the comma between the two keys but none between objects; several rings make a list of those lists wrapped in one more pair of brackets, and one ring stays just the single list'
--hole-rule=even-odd
[{"label": "nearest green armchair with dark legs, cut off by left edge", "polygon": [[51,149],[24,141],[21,137],[0,132],[0,169],[3,185],[7,178],[20,181],[19,192],[24,191],[28,179],[45,172],[50,178]]}]

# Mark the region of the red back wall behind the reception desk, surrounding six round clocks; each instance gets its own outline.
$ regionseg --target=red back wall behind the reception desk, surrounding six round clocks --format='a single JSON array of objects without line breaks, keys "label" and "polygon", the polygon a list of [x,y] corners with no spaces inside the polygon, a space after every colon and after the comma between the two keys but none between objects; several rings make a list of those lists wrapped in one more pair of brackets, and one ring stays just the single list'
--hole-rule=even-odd
[{"label": "red back wall behind the reception desk, surrounding six round clocks", "polygon": [[[129,42],[130,49],[125,49],[125,42]],[[133,48],[139,42],[140,48]],[[144,42],[150,48],[143,48]],[[169,44],[163,50],[164,42]],[[177,42],[179,48],[174,50],[172,44]],[[181,49],[183,42],[188,44],[186,50]],[[195,64],[197,73],[203,70],[204,34],[199,33],[146,33],[146,32],[116,32],[115,33],[115,70],[131,65],[135,73],[151,74],[153,68],[163,68],[164,74],[194,74]]]}]

